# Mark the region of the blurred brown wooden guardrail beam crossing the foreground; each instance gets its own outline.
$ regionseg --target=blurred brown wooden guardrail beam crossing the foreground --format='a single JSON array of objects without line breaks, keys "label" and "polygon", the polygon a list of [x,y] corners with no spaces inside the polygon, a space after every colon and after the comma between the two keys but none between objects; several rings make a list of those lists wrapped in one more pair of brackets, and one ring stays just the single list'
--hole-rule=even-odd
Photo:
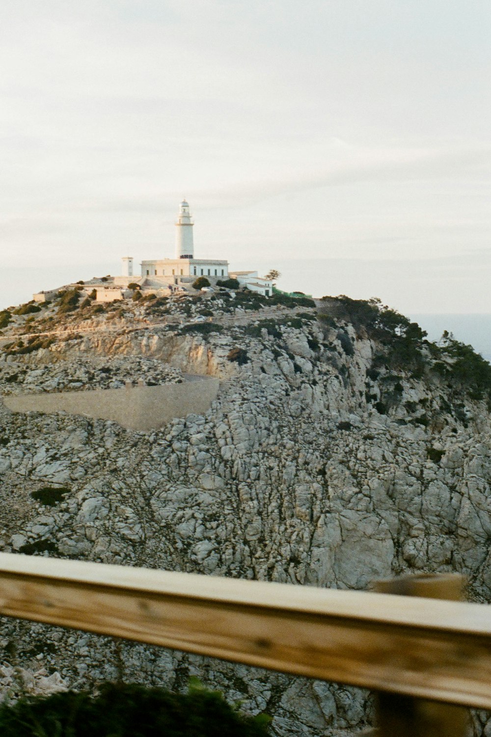
[{"label": "blurred brown wooden guardrail beam crossing the foreground", "polygon": [[0,614],[491,708],[491,608],[0,553]]}]

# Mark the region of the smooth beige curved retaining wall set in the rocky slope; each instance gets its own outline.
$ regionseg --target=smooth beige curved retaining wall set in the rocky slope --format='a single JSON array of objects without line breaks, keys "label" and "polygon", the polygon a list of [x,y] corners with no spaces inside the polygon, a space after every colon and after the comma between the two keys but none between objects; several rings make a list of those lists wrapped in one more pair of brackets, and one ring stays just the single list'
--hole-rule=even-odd
[{"label": "smooth beige curved retaining wall set in the rocky slope", "polygon": [[63,411],[112,419],[130,430],[156,430],[174,417],[206,412],[218,390],[218,379],[190,376],[182,384],[13,395],[4,404],[13,412]]}]

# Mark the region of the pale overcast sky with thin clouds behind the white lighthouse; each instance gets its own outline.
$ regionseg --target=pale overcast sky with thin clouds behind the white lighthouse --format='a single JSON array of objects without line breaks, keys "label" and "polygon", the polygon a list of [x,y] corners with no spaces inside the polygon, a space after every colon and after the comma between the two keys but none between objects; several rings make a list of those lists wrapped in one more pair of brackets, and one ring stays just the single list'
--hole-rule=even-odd
[{"label": "pale overcast sky with thin clouds behind the white lighthouse", "polygon": [[0,307],[174,254],[491,312],[489,0],[4,0]]}]

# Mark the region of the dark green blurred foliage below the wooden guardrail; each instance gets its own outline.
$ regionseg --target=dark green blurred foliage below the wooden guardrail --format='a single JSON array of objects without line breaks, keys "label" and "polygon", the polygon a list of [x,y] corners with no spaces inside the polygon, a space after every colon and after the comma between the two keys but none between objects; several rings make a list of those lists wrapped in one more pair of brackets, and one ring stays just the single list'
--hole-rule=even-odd
[{"label": "dark green blurred foliage below the wooden guardrail", "polygon": [[138,684],[21,699],[0,706],[2,737],[266,737],[269,716],[246,716],[222,694],[188,694]]}]

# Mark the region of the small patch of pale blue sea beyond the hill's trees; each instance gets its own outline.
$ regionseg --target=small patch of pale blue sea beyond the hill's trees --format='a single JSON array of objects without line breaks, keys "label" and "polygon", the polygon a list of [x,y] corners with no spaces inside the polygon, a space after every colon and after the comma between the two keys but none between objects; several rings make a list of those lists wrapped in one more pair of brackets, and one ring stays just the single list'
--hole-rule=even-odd
[{"label": "small patch of pale blue sea beyond the hill's trees", "polygon": [[444,330],[453,333],[456,340],[468,343],[491,363],[491,315],[408,315],[428,332],[428,340],[438,340]]}]

